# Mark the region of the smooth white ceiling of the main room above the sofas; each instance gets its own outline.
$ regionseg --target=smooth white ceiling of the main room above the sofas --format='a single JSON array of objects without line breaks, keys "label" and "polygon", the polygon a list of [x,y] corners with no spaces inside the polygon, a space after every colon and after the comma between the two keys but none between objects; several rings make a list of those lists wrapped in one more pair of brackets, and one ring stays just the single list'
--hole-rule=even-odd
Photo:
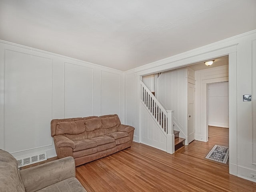
[{"label": "smooth white ceiling of the main room above the sofas", "polygon": [[256,0],[0,0],[0,39],[128,70],[256,29]]}]

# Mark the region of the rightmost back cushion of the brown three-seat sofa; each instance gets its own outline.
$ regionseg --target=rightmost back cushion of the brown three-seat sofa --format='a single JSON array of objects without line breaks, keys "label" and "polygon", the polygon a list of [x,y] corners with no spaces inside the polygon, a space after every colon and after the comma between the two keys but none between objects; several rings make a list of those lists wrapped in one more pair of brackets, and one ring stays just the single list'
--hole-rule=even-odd
[{"label": "rightmost back cushion of the brown three-seat sofa", "polygon": [[102,128],[105,129],[105,134],[117,131],[117,127],[121,124],[118,115],[101,116]]}]

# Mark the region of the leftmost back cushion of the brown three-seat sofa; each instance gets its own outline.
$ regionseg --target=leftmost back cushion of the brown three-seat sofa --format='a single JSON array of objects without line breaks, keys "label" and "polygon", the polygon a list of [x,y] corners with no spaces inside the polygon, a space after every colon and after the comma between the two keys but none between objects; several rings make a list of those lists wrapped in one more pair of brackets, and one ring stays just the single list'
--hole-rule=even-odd
[{"label": "leftmost back cushion of the brown three-seat sofa", "polygon": [[56,127],[56,135],[80,134],[84,132],[84,130],[84,120],[58,122]]}]

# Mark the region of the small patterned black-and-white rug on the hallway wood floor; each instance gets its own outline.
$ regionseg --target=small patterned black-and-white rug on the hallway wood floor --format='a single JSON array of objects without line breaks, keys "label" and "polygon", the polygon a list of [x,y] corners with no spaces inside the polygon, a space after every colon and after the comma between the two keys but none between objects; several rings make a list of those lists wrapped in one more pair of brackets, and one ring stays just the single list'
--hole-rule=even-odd
[{"label": "small patterned black-and-white rug on the hallway wood floor", "polygon": [[216,162],[228,164],[228,154],[229,154],[228,147],[214,145],[205,158],[216,161]]}]

